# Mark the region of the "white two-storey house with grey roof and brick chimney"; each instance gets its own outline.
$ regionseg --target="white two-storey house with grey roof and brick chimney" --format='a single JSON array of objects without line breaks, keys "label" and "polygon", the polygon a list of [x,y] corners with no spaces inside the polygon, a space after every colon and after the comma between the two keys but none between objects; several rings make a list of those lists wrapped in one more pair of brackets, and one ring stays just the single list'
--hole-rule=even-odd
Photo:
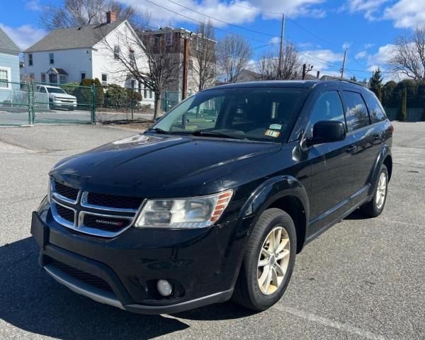
[{"label": "white two-storey house with grey roof and brick chimney", "polygon": [[[118,60],[118,53],[137,55],[143,53],[135,43],[132,50],[120,45],[120,40],[138,37],[127,20],[116,20],[113,12],[106,13],[106,22],[89,26],[52,30],[44,38],[24,51],[21,78],[50,84],[80,82],[82,79],[99,79],[104,86],[117,84],[137,88],[134,79]],[[141,62],[137,60],[137,62]],[[152,91],[141,90],[142,103],[153,105]]]}]

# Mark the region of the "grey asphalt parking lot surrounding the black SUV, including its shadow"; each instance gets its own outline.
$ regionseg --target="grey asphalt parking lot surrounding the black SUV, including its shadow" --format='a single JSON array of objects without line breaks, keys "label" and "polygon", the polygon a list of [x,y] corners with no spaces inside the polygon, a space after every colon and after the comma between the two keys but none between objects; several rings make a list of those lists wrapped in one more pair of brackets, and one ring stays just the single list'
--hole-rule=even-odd
[{"label": "grey asphalt parking lot surrounding the black SUV, including its shadow", "polygon": [[0,339],[425,339],[425,123],[394,123],[384,213],[356,213],[297,256],[277,305],[227,302],[174,315],[131,314],[72,293],[38,267],[30,215],[60,159],[131,130],[0,128]]}]

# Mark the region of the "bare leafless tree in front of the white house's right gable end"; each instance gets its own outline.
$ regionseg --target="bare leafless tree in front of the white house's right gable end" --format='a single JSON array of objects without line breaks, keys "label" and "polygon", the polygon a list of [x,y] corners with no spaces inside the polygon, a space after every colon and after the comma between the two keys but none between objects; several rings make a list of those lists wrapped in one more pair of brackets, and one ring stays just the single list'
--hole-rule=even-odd
[{"label": "bare leafless tree in front of the white house's right gable end", "polygon": [[[144,84],[155,94],[154,119],[161,112],[162,93],[170,84],[179,80],[182,67],[179,45],[166,45],[165,34],[151,34],[145,31],[115,33],[112,43],[103,35],[103,46],[118,60],[120,67],[115,74],[123,74],[127,78]],[[119,46],[119,52],[116,46]]]}]

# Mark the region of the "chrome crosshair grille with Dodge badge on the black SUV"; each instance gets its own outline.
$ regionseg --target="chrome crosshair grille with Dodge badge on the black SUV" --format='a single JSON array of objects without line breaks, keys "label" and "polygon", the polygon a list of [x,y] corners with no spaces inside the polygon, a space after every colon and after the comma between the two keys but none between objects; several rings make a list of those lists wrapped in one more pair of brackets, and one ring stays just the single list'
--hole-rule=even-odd
[{"label": "chrome crosshair grille with Dodge badge on the black SUV", "polygon": [[89,193],[52,181],[52,215],[64,227],[115,237],[131,227],[144,200]]}]

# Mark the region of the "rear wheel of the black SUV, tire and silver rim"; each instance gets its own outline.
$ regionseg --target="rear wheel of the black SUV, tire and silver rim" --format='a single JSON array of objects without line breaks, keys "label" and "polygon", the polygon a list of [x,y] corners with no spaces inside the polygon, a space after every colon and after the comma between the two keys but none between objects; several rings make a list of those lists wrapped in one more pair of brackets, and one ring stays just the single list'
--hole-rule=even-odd
[{"label": "rear wheel of the black SUV, tire and silver rim", "polygon": [[372,200],[360,207],[363,215],[367,217],[378,217],[384,210],[385,202],[387,201],[387,191],[388,170],[387,166],[382,164],[378,174],[378,179],[375,183],[375,193],[373,194]]}]

